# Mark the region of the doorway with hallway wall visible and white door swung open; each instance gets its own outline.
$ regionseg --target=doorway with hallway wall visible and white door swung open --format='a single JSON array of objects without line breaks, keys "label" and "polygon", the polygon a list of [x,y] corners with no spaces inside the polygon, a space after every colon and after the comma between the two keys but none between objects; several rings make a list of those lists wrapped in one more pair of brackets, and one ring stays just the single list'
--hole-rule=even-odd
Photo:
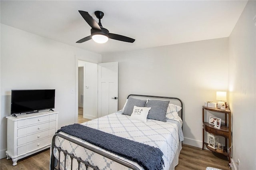
[{"label": "doorway with hallway wall visible and white door swung open", "polygon": [[[76,56],[75,123],[78,123],[78,68],[83,67],[83,118],[96,119],[118,110],[118,63],[90,63]],[[115,68],[115,69],[114,69]],[[99,74],[98,74],[99,69]],[[115,73],[113,73],[115,72]],[[113,76],[116,81],[112,81]],[[117,85],[114,85],[115,83]],[[99,83],[99,84],[98,84]],[[115,88],[113,88],[115,87]],[[114,90],[115,89],[115,90]],[[99,93],[98,93],[99,91]],[[116,91],[116,92],[114,92]],[[99,96],[98,96],[99,95]],[[81,102],[80,102],[81,103]],[[106,105],[108,104],[108,105]],[[81,106],[81,105],[80,105]]]}]

